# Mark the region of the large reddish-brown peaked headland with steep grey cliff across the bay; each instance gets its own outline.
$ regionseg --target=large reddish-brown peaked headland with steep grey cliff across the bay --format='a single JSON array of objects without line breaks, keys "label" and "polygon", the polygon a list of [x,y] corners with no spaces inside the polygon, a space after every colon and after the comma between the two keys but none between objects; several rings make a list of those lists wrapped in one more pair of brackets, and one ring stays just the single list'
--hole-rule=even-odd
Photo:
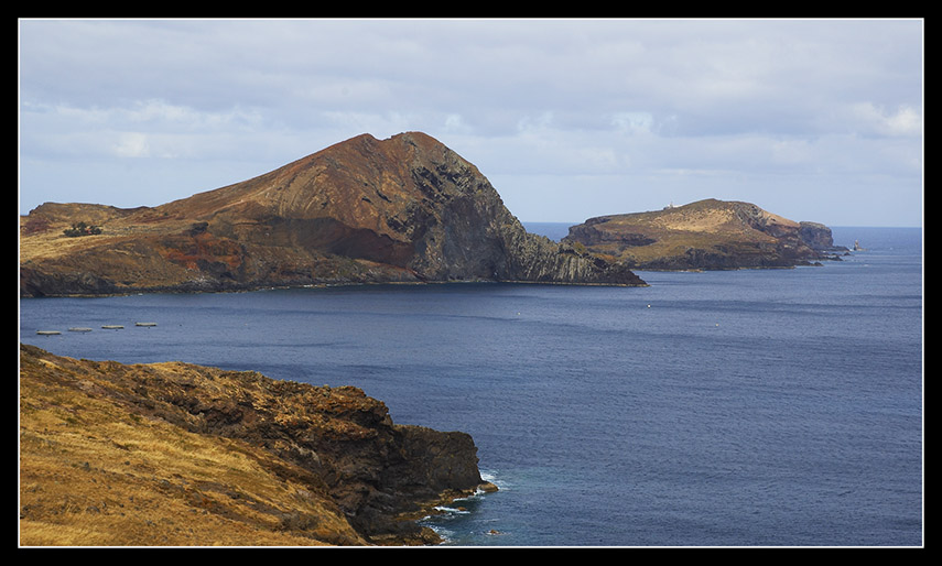
[{"label": "large reddish-brown peaked headland with steep grey cliff across the bay", "polygon": [[[67,238],[84,221],[101,233]],[[21,219],[22,295],[324,283],[643,285],[527,232],[478,170],[419,132],[364,134],[158,207],[46,204]]]}]

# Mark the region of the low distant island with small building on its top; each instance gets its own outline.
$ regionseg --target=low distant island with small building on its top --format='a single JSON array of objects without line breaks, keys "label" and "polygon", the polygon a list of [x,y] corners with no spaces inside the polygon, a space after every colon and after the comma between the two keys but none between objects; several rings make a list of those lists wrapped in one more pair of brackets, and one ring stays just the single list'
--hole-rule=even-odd
[{"label": "low distant island with small building on its top", "polygon": [[824,225],[716,199],[591,218],[563,241],[639,270],[789,268],[848,251],[834,246]]}]

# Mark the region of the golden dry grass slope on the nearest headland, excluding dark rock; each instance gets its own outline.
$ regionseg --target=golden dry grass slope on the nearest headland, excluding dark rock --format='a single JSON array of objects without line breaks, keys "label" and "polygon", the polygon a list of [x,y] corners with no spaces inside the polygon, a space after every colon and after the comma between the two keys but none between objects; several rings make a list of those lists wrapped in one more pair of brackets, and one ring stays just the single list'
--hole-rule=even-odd
[{"label": "golden dry grass slope on the nearest headland, excluding dark rock", "polygon": [[21,545],[364,544],[290,464],[86,389],[21,375]]}]

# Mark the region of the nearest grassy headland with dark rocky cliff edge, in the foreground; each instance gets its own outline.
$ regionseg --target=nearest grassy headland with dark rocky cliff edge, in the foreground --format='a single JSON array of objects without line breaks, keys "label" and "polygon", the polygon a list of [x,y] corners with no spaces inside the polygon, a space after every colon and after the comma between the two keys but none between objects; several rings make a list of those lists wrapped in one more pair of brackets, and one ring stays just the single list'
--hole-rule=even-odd
[{"label": "nearest grassy headland with dark rocky cliff edge, in the foreground", "polygon": [[20,544],[433,544],[413,521],[489,486],[464,433],[355,388],[20,346]]}]

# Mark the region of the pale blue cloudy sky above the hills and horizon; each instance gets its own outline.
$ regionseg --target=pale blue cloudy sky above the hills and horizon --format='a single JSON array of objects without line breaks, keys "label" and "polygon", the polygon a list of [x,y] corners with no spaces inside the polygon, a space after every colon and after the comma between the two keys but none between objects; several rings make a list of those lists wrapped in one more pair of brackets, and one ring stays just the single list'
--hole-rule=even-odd
[{"label": "pale blue cloudy sky above the hills and horizon", "polygon": [[703,198],[922,226],[924,22],[19,22],[19,209],[156,206],[422,131],[522,221]]}]

